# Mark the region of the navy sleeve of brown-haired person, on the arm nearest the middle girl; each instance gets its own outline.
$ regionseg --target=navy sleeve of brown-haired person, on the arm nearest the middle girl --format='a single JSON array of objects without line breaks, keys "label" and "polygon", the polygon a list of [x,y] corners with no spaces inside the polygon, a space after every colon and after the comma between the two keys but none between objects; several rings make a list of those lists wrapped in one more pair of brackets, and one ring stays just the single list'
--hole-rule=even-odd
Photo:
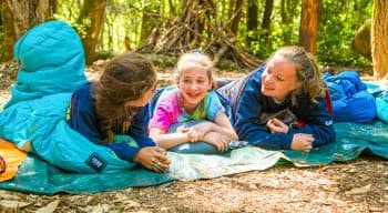
[{"label": "navy sleeve of brown-haired person, on the arm nearest the middle girl", "polygon": [[132,136],[140,148],[155,146],[155,142],[147,134],[147,126],[150,122],[149,104],[141,108],[139,113],[133,118],[130,129],[130,136]]}]

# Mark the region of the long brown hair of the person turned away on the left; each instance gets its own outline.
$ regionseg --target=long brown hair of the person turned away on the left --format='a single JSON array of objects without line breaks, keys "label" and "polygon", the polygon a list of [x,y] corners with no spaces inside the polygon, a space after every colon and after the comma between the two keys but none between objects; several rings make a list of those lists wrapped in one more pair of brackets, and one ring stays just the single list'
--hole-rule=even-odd
[{"label": "long brown hair of the person turned away on the left", "polygon": [[141,99],[156,82],[156,72],[150,61],[140,54],[125,53],[113,58],[93,83],[92,97],[100,132],[105,142],[113,141],[112,126],[118,120],[125,133],[136,108],[125,108],[127,101]]}]

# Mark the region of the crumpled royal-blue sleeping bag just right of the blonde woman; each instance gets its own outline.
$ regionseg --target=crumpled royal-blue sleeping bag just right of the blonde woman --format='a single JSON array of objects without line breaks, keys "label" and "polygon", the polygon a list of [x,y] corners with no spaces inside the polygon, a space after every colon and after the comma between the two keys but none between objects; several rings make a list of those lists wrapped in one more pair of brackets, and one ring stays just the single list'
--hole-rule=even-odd
[{"label": "crumpled royal-blue sleeping bag just right of the blonde woman", "polygon": [[334,122],[369,122],[376,118],[375,98],[355,71],[325,73],[333,101]]}]

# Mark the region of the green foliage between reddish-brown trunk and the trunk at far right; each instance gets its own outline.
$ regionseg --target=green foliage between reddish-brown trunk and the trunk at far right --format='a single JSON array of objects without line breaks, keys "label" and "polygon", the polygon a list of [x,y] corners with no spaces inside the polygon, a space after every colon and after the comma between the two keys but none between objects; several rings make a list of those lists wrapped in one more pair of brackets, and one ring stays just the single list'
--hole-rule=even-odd
[{"label": "green foliage between reddish-brown trunk and the trunk at far right", "polygon": [[371,17],[372,1],[324,0],[319,11],[317,58],[325,63],[370,64],[351,49],[357,29]]}]

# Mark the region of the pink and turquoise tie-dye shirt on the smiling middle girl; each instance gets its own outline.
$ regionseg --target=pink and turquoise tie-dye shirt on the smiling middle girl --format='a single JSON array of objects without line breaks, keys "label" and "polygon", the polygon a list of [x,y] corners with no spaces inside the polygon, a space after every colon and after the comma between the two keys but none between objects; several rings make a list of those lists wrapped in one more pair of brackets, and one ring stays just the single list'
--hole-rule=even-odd
[{"label": "pink and turquoise tie-dye shirt on the smiling middle girl", "polygon": [[204,100],[200,102],[193,114],[186,113],[182,104],[180,90],[176,87],[165,88],[160,95],[149,129],[157,128],[169,132],[170,125],[191,120],[208,120],[214,119],[222,112],[225,112],[217,94],[214,91],[207,92]]}]

